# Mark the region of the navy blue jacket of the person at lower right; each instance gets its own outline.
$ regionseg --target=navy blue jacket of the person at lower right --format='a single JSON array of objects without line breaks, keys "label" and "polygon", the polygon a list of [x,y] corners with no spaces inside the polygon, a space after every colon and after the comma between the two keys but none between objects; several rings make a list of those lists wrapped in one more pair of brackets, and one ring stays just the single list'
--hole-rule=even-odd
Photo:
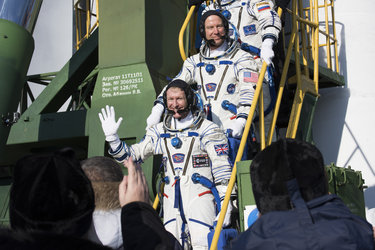
[{"label": "navy blue jacket of the person at lower right", "polygon": [[336,195],[325,195],[306,205],[306,209],[262,215],[230,249],[374,249],[372,226],[352,214]]}]

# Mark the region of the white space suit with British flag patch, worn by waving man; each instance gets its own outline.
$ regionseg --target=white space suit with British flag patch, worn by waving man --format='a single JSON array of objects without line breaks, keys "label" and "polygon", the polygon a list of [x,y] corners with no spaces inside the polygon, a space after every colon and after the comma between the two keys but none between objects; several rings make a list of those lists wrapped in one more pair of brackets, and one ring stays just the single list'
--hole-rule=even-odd
[{"label": "white space suit with British flag patch, worn by waving man", "polygon": [[182,121],[167,116],[164,123],[147,129],[141,142],[131,146],[123,142],[110,154],[119,162],[130,155],[133,160],[163,155],[167,179],[163,193],[165,228],[182,244],[186,243],[181,233],[188,229],[193,248],[207,249],[207,234],[216,217],[214,196],[210,189],[193,183],[192,176],[199,174],[215,183],[228,180],[228,151],[222,130],[190,112]]}]

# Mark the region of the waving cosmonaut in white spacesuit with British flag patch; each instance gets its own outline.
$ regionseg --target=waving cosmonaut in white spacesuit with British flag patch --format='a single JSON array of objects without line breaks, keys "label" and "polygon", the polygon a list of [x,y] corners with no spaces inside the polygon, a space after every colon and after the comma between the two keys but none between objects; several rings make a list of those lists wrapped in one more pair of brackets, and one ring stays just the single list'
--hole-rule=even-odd
[{"label": "waving cosmonaut in white spacesuit with British flag patch", "polygon": [[[168,111],[164,121],[148,128],[141,142],[131,146],[117,135],[122,118],[115,121],[113,107],[102,109],[99,118],[109,153],[118,162],[129,156],[139,161],[163,155],[165,228],[182,245],[207,249],[207,234],[218,219],[217,210],[231,174],[227,138],[216,124],[203,117],[196,95],[186,82],[172,81],[163,98]],[[230,224],[231,210],[229,204],[224,225]]]}]

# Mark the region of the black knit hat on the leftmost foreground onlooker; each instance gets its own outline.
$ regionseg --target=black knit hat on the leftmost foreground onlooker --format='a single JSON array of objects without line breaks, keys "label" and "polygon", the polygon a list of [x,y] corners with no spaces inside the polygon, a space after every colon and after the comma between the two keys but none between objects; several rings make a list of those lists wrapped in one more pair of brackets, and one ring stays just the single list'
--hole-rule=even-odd
[{"label": "black knit hat on the leftmost foreground onlooker", "polygon": [[71,149],[21,158],[10,191],[13,229],[84,235],[92,221],[94,192]]}]

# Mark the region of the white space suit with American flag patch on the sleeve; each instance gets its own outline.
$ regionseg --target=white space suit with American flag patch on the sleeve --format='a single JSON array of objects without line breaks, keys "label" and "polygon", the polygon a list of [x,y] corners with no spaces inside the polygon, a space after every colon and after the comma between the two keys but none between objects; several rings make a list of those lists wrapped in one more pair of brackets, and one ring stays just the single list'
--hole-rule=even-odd
[{"label": "white space suit with American flag patch on the sleeve", "polygon": [[[213,70],[209,71],[209,67]],[[231,40],[213,51],[206,44],[202,45],[199,54],[185,60],[175,79],[198,84],[205,108],[211,108],[212,121],[226,131],[232,128],[235,119],[246,121],[260,67],[259,58],[241,50],[239,44]],[[162,93],[158,100],[162,101]],[[224,101],[235,109],[224,108]],[[209,112],[206,114],[209,116]]]}]

